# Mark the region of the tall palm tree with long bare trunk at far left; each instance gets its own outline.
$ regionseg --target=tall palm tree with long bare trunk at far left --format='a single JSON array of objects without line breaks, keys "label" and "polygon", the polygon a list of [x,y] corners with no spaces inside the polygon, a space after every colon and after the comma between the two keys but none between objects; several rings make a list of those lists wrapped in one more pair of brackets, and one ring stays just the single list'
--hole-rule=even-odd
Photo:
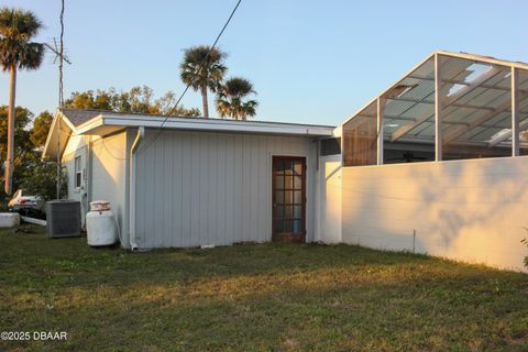
[{"label": "tall palm tree with long bare trunk at far left", "polygon": [[41,30],[41,21],[31,11],[0,9],[0,64],[11,75],[8,114],[8,157],[6,193],[12,191],[14,151],[14,96],[16,69],[37,69],[44,57],[44,45],[30,42]]}]

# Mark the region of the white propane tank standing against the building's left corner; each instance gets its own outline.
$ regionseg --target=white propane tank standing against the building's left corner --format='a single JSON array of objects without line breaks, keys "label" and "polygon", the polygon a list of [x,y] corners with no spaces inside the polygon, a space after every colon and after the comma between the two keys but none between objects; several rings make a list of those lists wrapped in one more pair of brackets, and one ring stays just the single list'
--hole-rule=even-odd
[{"label": "white propane tank standing against the building's left corner", "polygon": [[116,219],[110,202],[96,200],[90,202],[90,211],[86,215],[88,245],[100,246],[116,243]]}]

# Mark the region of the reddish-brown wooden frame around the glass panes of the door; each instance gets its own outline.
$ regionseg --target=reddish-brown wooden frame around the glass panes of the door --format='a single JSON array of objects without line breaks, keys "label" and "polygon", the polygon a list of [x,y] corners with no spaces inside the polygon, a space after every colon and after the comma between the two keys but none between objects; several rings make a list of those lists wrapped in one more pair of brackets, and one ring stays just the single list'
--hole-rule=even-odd
[{"label": "reddish-brown wooden frame around the glass panes of the door", "polygon": [[[274,198],[275,198],[275,195],[274,195],[274,191],[275,191],[275,175],[274,175],[274,160],[275,158],[278,158],[278,157],[285,157],[285,158],[298,158],[298,160],[302,160],[304,162],[304,172],[302,172],[302,194],[301,194],[301,197],[302,197],[302,232],[300,233],[300,238],[299,239],[296,239],[298,237],[298,234],[296,234],[295,232],[292,232],[292,233],[285,233],[284,234],[284,238],[280,239],[278,238],[276,234],[275,234],[275,216],[274,216]],[[271,169],[270,169],[270,175],[272,177],[272,182],[271,182],[271,190],[270,190],[270,200],[271,200],[271,216],[272,216],[272,221],[271,221],[271,224],[272,224],[272,229],[271,229],[271,235],[272,235],[272,241],[273,242],[292,242],[292,243],[306,243],[306,234],[307,234],[307,224],[308,224],[308,219],[307,219],[307,208],[308,208],[308,197],[307,197],[307,194],[308,194],[308,155],[306,154],[295,154],[295,153],[292,153],[292,154],[284,154],[284,153],[280,153],[280,154],[271,154],[271,158],[270,158],[270,164],[271,164]]]}]

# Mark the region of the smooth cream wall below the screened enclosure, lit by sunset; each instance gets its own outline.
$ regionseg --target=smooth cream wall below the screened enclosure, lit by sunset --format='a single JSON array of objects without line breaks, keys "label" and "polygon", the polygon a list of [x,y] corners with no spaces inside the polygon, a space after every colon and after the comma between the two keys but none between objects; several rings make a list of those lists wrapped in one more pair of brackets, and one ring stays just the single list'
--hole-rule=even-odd
[{"label": "smooth cream wall below the screened enclosure, lit by sunset", "polygon": [[528,157],[343,167],[345,243],[524,270]]}]

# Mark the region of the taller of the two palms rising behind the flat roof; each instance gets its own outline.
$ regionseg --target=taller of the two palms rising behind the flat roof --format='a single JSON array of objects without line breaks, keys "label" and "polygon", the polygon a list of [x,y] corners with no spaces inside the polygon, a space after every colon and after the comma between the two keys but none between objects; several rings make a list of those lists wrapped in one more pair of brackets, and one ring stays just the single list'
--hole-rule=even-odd
[{"label": "taller of the two palms rising behind the flat roof", "polygon": [[204,116],[209,118],[207,90],[216,92],[228,68],[223,65],[226,53],[207,45],[193,46],[185,50],[184,61],[180,64],[180,77],[184,84],[195,91],[201,91]]}]

